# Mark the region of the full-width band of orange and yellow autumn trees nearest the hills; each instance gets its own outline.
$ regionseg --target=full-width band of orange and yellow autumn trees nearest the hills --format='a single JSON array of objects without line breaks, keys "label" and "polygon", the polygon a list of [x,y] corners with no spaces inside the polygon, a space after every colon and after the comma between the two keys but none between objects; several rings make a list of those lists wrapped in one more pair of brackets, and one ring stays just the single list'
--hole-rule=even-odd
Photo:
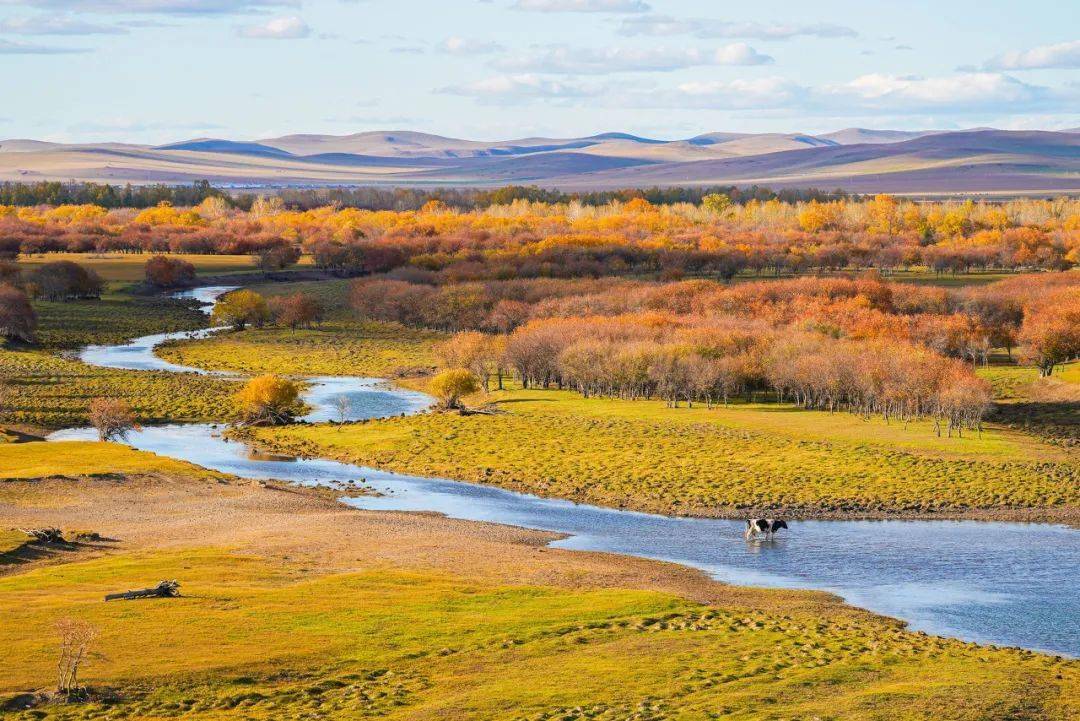
[{"label": "full-width band of orange and yellow autumn trees nearest the hills", "polygon": [[700,205],[635,198],[590,206],[514,201],[456,210],[323,206],[248,210],[211,196],[193,207],[0,206],[0,256],[73,253],[261,254],[274,246],[332,259],[343,273],[401,268],[449,283],[507,277],[802,274],[912,267],[1061,270],[1080,263],[1080,201],[915,204],[777,200],[712,193]]}]

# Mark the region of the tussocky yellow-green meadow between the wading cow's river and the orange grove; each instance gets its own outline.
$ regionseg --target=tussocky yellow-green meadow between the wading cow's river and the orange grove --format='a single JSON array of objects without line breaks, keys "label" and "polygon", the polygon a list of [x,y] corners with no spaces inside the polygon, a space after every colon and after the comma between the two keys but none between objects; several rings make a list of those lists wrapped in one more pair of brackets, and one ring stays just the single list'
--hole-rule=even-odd
[{"label": "tussocky yellow-green meadow between the wading cow's river and the orange grove", "polygon": [[640,511],[960,513],[1080,505],[1080,466],[1026,434],[939,438],[791,406],[666,408],[561,391],[492,396],[501,413],[257,430],[286,452]]}]

